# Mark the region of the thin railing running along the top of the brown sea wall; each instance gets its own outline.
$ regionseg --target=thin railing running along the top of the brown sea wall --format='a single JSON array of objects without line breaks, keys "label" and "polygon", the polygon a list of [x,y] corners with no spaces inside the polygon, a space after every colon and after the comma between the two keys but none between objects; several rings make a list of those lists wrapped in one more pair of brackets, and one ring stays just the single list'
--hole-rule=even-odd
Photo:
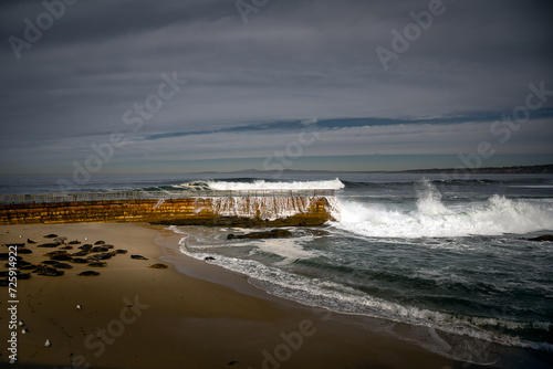
[{"label": "thin railing running along the top of the brown sea wall", "polygon": [[184,190],[184,191],[113,191],[74,192],[41,194],[0,196],[0,204],[51,203],[76,201],[131,201],[131,200],[171,200],[190,198],[222,197],[333,197],[334,190]]}]

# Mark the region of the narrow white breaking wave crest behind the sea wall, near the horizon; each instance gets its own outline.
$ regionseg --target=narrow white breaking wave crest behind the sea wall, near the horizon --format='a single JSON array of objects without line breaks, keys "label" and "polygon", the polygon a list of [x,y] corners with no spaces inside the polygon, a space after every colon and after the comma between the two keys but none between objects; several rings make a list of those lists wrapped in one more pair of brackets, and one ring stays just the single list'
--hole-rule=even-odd
[{"label": "narrow white breaking wave crest behind the sea wall, near the horizon", "polygon": [[209,188],[221,191],[239,190],[340,190],[345,187],[336,178],[325,181],[291,181],[291,182],[268,182],[257,180],[253,182],[229,182],[229,181],[208,181]]}]

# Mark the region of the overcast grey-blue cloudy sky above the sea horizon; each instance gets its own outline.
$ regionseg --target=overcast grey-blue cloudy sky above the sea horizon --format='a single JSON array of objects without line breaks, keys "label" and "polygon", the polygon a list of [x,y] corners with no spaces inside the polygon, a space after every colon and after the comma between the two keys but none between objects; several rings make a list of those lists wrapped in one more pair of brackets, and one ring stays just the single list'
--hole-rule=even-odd
[{"label": "overcast grey-blue cloudy sky above the sea horizon", "polygon": [[552,164],[552,10],[1,1],[0,172]]}]

